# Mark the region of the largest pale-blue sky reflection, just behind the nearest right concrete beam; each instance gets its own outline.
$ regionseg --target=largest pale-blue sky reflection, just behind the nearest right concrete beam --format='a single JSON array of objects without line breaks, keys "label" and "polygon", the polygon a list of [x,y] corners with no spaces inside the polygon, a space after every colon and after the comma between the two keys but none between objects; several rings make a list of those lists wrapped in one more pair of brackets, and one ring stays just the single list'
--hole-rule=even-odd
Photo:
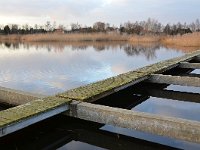
[{"label": "largest pale-blue sky reflection, just behind the nearest right concrete beam", "polygon": [[133,108],[135,111],[200,121],[200,104],[150,97]]}]

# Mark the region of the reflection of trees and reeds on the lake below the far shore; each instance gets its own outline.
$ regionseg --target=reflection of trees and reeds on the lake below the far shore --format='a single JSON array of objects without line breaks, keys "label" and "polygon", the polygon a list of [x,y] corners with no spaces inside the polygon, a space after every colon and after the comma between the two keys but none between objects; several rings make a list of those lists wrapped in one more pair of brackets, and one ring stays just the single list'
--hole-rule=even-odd
[{"label": "reflection of trees and reeds on the lake below the far shore", "polygon": [[[8,48],[10,50],[27,49],[34,48],[46,49],[49,53],[62,53],[66,49],[71,50],[88,50],[93,48],[95,51],[105,51],[105,50],[123,50],[128,56],[138,56],[144,55],[147,60],[153,60],[156,58],[156,50],[159,50],[163,45],[160,43],[128,43],[128,42],[30,42],[30,43],[9,43],[5,42],[2,47]],[[174,49],[183,52],[190,52],[198,49],[197,47],[171,47],[164,46],[168,49]]]}]

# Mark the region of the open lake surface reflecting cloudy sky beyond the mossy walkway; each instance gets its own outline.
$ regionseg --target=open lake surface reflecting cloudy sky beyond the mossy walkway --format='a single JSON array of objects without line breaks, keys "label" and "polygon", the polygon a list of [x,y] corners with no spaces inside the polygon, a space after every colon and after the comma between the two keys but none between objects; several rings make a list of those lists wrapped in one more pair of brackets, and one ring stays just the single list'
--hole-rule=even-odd
[{"label": "open lake surface reflecting cloudy sky beyond the mossy walkway", "polygon": [[159,44],[6,43],[0,54],[0,86],[53,95],[184,52]]}]

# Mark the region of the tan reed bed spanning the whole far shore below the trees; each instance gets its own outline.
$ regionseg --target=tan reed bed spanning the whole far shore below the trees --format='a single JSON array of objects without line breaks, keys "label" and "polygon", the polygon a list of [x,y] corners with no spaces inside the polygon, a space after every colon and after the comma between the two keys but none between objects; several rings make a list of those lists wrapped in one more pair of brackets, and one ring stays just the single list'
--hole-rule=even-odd
[{"label": "tan reed bed spanning the whole far shore below the trees", "polygon": [[159,42],[166,46],[200,47],[200,32],[184,35],[128,35],[119,33],[46,33],[0,35],[0,42]]}]

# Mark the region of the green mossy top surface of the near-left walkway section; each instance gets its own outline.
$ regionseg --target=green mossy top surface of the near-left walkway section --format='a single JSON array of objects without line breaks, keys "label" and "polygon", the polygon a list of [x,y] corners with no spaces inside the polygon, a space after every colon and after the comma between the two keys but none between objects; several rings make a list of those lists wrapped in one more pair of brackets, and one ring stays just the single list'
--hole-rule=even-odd
[{"label": "green mossy top surface of the near-left walkway section", "polygon": [[70,101],[70,99],[47,97],[0,111],[0,127],[20,122],[26,118],[37,116],[46,111],[56,109],[56,107],[68,104]]}]

